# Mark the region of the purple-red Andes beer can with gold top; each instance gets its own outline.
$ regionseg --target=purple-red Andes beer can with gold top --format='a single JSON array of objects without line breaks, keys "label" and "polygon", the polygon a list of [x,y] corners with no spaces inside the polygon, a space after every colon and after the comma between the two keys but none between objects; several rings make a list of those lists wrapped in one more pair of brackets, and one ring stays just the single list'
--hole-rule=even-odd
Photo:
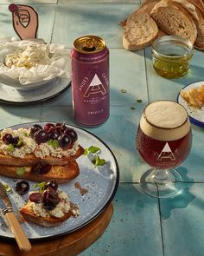
[{"label": "purple-red Andes beer can with gold top", "polygon": [[110,113],[109,49],[99,36],[82,36],[73,42],[71,56],[73,116],[97,126]]}]

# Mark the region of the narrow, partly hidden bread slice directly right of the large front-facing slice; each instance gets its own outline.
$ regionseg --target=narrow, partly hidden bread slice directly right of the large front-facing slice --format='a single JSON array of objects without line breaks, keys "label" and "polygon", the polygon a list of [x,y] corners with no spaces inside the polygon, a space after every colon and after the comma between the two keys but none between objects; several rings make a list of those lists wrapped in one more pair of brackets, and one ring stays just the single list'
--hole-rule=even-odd
[{"label": "narrow, partly hidden bread slice directly right of the large front-facing slice", "polygon": [[173,0],[175,3],[182,4],[182,7],[188,10],[188,13],[193,17],[197,29],[197,37],[194,46],[199,49],[204,49],[204,18],[201,10],[198,9],[193,3],[187,0]]}]

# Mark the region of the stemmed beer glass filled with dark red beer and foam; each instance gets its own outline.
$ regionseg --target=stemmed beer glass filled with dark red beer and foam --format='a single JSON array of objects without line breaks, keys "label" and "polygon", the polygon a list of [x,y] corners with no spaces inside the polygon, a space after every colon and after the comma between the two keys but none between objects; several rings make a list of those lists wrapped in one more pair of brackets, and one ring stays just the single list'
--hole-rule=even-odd
[{"label": "stemmed beer glass filled with dark red beer and foam", "polygon": [[190,152],[192,142],[188,113],[179,103],[151,102],[137,129],[137,151],[150,165],[141,179],[144,193],[154,197],[182,194],[182,176],[175,169]]}]

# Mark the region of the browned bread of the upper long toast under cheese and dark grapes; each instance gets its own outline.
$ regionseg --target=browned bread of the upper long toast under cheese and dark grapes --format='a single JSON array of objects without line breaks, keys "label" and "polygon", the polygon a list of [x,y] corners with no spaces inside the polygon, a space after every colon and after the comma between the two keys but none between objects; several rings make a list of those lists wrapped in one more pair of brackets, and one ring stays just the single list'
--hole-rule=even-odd
[{"label": "browned bread of the upper long toast under cheese and dark grapes", "polygon": [[84,154],[84,148],[82,148],[81,146],[79,146],[79,149],[76,152],[76,154],[63,156],[61,158],[48,155],[45,158],[40,159],[37,158],[35,154],[26,154],[24,158],[16,158],[14,156],[11,156],[10,154],[3,154],[2,152],[0,152],[0,165],[29,167],[34,166],[38,162],[45,162],[50,165],[62,166],[68,164],[70,161],[76,160],[78,157],[80,157],[81,154]]}]

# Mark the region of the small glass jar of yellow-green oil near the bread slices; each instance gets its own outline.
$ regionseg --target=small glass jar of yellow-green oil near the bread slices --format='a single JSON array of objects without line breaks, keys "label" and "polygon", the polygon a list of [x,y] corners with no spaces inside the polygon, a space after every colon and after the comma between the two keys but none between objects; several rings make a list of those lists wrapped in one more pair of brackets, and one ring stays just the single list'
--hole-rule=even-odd
[{"label": "small glass jar of yellow-green oil near the bread slices", "polygon": [[193,54],[193,44],[181,36],[162,36],[152,43],[153,67],[166,78],[186,75]]}]

